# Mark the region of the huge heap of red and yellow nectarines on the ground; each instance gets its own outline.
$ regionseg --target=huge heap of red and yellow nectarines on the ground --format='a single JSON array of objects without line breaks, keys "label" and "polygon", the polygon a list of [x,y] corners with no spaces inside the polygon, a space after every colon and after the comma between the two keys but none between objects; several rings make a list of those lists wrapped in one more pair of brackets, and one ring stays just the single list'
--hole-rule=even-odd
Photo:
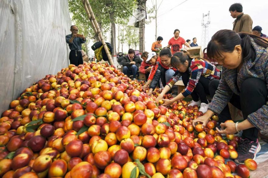
[{"label": "huge heap of red and yellow nectarines on the ground", "polygon": [[0,118],[0,176],[244,178],[256,169],[225,162],[240,138],[217,133],[217,116],[194,128],[197,106],[158,106],[160,89],[147,96],[143,84],[96,62],[35,82]]}]

